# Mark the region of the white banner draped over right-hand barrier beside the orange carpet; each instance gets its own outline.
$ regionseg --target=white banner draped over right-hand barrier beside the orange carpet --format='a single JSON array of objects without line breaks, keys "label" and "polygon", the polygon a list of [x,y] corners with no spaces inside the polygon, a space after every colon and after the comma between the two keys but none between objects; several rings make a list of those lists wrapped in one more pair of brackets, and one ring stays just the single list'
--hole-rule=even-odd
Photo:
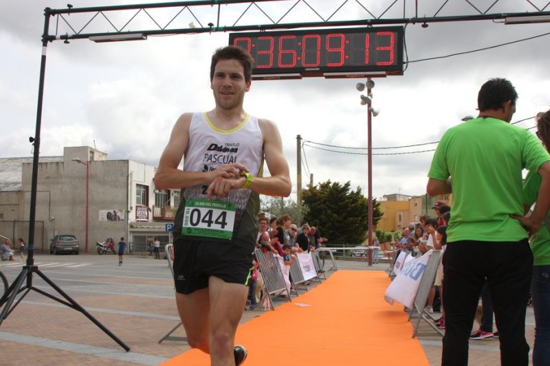
[{"label": "white banner draped over right-hand barrier beside the orange carpet", "polygon": [[428,253],[421,257],[404,264],[399,274],[393,279],[390,286],[386,288],[384,299],[389,304],[393,304],[395,300],[412,309],[412,304],[415,302],[418,286],[420,285],[422,274],[424,273],[424,269],[426,269],[430,255],[432,255],[432,251],[428,251]]}]

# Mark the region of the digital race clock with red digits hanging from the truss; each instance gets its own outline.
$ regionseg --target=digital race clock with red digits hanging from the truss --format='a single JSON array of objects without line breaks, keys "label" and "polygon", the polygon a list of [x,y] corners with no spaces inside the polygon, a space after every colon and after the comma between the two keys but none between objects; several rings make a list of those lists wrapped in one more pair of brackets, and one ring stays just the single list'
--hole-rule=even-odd
[{"label": "digital race clock with red digits hanging from the truss", "polygon": [[403,27],[365,27],[229,35],[254,58],[252,78],[403,74]]}]

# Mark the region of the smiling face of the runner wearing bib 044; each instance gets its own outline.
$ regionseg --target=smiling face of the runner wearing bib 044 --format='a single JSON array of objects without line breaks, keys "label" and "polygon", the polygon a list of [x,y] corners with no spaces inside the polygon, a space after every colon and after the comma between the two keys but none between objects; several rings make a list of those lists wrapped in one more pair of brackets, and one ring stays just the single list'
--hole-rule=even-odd
[{"label": "smiling face of the runner wearing bib 044", "polygon": [[245,81],[244,68],[238,60],[219,60],[210,82],[216,106],[230,110],[242,106],[244,95],[250,90]]}]

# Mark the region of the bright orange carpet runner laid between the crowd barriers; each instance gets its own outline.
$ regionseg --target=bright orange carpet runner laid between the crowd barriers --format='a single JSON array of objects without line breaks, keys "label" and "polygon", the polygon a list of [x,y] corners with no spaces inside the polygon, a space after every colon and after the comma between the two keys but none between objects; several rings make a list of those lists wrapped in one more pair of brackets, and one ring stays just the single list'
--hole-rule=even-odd
[{"label": "bright orange carpet runner laid between the crowd barriers", "polygon": [[[337,271],[313,290],[239,327],[248,366],[429,365],[403,306],[384,301],[382,271]],[[163,366],[208,366],[190,350]]]}]

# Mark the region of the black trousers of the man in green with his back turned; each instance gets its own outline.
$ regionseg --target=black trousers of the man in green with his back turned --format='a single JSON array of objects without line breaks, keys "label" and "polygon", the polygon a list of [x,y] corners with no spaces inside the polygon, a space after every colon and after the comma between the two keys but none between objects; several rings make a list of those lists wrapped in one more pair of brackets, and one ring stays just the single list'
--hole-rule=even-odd
[{"label": "black trousers of the man in green with his back turned", "polygon": [[525,311],[532,266],[533,255],[527,239],[462,240],[447,245],[443,255],[445,336],[441,365],[467,365],[468,339],[485,279],[500,334],[501,365],[529,364]]}]

